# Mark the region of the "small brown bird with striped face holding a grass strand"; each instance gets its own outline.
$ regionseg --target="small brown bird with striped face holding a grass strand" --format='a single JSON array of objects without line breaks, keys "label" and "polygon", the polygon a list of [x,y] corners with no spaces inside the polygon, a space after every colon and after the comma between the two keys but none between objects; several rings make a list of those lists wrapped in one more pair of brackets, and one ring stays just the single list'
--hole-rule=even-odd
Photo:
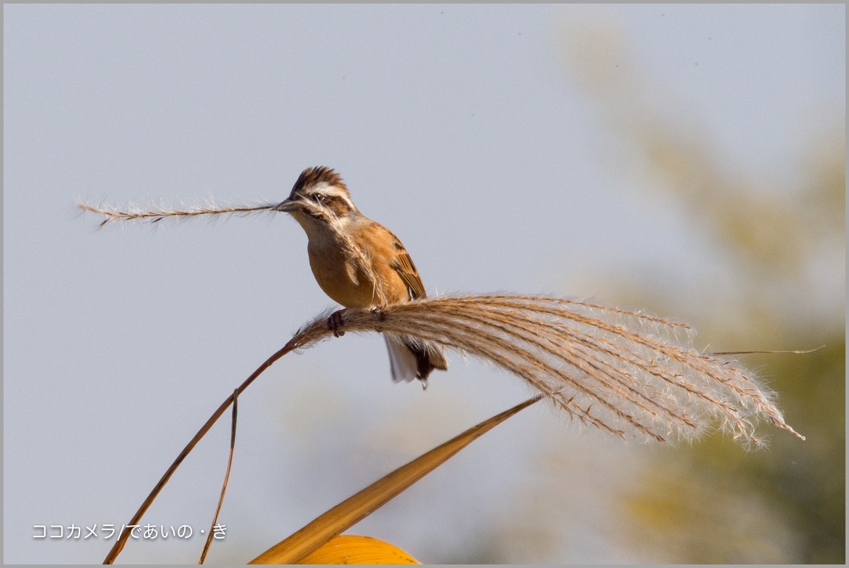
[{"label": "small brown bird with striped face holding a grass strand", "polygon": [[[301,223],[309,243],[306,251],[318,285],[345,307],[380,307],[424,298],[424,284],[401,241],[378,222],[365,217],[351,201],[340,175],[328,167],[301,172],[289,199],[277,206]],[[345,310],[328,319],[335,335]],[[441,349],[408,338],[385,335],[392,380],[427,377],[438,368],[447,370]]]}]

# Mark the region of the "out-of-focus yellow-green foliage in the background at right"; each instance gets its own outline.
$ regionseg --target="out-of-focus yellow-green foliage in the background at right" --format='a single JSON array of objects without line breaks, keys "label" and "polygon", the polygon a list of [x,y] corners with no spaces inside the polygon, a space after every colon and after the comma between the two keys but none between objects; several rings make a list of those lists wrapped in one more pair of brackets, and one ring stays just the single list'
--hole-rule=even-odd
[{"label": "out-of-focus yellow-green foliage in the background at right", "polygon": [[[630,181],[647,197],[683,207],[734,278],[722,290],[711,287],[711,301],[691,299],[691,323],[727,349],[825,346],[744,362],[762,369],[807,441],[774,435],[769,451],[743,453],[712,436],[646,459],[638,487],[621,496],[628,540],[649,561],[842,564],[845,111],[823,120],[828,110],[812,109],[806,147],[790,161],[795,172],[776,183],[758,173],[768,166],[741,168],[719,158],[720,143],[694,110],[672,115],[674,101],[658,96],[662,87],[651,84],[615,20],[567,27],[565,66],[621,141],[610,149],[614,160],[628,155],[622,170]],[[680,313],[665,294],[633,281],[621,291],[635,305]]]}]

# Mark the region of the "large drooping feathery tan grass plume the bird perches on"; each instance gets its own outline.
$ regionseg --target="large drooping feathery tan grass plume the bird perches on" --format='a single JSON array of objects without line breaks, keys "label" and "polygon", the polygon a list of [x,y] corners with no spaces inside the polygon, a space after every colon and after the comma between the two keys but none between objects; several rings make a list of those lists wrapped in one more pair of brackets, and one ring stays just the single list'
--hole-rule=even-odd
[{"label": "large drooping feathery tan grass plume the bird perches on", "polygon": [[[623,439],[691,440],[718,425],[762,447],[761,420],[802,438],[750,370],[695,350],[687,326],[641,312],[532,295],[439,296],[347,310],[343,329],[468,352],[520,376],[571,419]],[[299,347],[326,330],[325,314],[301,329]]]}]

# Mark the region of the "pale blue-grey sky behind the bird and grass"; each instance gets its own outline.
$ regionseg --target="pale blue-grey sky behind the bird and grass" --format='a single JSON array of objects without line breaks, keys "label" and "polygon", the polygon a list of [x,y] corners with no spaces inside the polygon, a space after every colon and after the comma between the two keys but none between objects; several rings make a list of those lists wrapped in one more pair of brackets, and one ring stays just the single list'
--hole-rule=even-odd
[{"label": "pale blue-grey sky behind the bird and grass", "polygon": [[[559,34],[584,21],[619,26],[658,96],[693,112],[735,170],[790,175],[800,133],[845,100],[842,4],[12,4],[3,13],[8,563],[103,560],[111,543],[102,538],[38,541],[32,526],[127,522],[218,403],[331,305],[309,271],[306,237],[284,215],[96,230],[76,200],[282,200],[304,167],[326,165],[403,240],[429,293],[605,300],[622,283],[596,275],[650,273],[694,294],[711,245],[656,195],[623,191],[605,155],[615,134],[565,68]],[[210,560],[248,560],[528,392],[456,354],[426,393],[393,385],[374,335],[286,357],[240,400],[222,512],[231,532]],[[224,422],[146,520],[208,524]],[[355,532],[425,562],[462,561],[531,475],[529,436],[578,445],[594,436],[548,408],[512,422]],[[627,475],[617,456],[633,452],[603,447],[616,465],[582,492],[599,500],[610,476]],[[633,560],[592,524],[578,535],[592,546],[573,543],[555,560]],[[191,562],[196,551],[197,538],[134,542],[121,560]]]}]

